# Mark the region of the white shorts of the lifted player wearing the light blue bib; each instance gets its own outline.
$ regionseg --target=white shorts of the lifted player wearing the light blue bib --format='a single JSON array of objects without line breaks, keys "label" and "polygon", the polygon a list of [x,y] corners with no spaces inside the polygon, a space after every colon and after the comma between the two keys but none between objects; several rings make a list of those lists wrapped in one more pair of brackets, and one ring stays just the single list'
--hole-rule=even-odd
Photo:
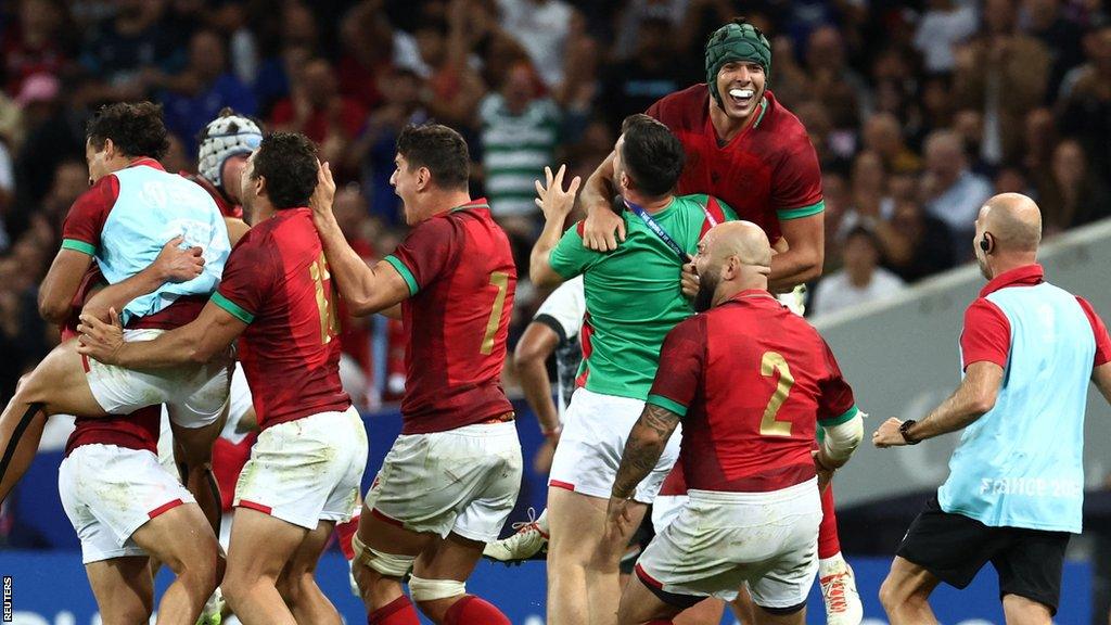
[{"label": "white shorts of the lifted player wearing the light blue bib", "polygon": [[[126,329],[123,340],[153,340],[166,330]],[[110,415],[128,415],[144,406],[167,404],[173,423],[204,427],[220,418],[228,403],[230,364],[223,358],[154,373],[106,365],[82,357],[89,389]]]}]

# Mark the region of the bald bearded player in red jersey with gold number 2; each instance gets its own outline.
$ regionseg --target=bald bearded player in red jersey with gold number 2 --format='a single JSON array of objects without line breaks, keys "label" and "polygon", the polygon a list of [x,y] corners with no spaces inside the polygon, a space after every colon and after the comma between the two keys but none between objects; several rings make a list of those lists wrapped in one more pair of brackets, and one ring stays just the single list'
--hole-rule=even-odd
[{"label": "bald bearded player in red jersey with gold number 2", "polygon": [[[635,489],[680,423],[689,500],[638,560],[618,622],[671,623],[748,584],[755,623],[802,625],[818,572],[818,473],[848,462],[862,419],[825,341],[768,291],[772,251],[759,226],[714,227],[694,262],[695,308],[705,312],[663,344],[621,456],[608,533],[635,527]],[[824,444],[812,453],[818,425]]]}]

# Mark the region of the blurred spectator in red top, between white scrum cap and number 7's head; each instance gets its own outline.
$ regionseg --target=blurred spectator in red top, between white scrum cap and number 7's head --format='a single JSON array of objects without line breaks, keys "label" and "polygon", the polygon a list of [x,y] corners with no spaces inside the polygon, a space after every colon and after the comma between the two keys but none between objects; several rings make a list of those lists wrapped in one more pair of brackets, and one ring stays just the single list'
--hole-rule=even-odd
[{"label": "blurred spectator in red top, between white scrum cap and number 7's head", "polygon": [[362,107],[339,93],[332,67],[317,58],[296,77],[290,97],[274,106],[270,123],[276,130],[303,132],[320,148],[322,160],[340,162],[363,119]]}]

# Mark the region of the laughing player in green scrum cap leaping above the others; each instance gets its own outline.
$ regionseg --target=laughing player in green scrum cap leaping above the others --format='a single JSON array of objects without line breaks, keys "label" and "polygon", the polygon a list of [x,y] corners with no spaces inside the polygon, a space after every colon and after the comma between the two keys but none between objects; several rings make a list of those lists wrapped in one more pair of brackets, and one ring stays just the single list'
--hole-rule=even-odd
[{"label": "laughing player in green scrum cap leaping above the others", "polygon": [[[647,112],[683,143],[687,167],[678,192],[720,198],[742,219],[763,228],[778,251],[769,288],[785,292],[821,275],[824,201],[818,156],[807,130],[768,88],[771,67],[768,39],[739,18],[707,41],[707,82],[665,96]],[[591,249],[615,249],[627,232],[609,210],[613,158],[610,155],[583,188],[588,212],[583,240]],[[691,271],[690,266],[687,269]],[[787,300],[801,305],[799,298]],[[661,489],[653,517],[667,518],[668,509],[681,504],[684,490],[679,469]],[[827,619],[833,625],[857,625],[863,608],[852,571],[841,555],[832,488],[824,490],[822,502],[819,579]]]}]

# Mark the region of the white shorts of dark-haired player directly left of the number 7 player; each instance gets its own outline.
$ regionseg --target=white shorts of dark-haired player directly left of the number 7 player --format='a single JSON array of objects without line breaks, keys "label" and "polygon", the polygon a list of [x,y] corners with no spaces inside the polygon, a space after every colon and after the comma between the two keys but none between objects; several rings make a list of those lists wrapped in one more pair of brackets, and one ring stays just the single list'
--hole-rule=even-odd
[{"label": "white shorts of dark-haired player directly left of the number 7 player", "polygon": [[367,429],[354,407],[263,429],[236,483],[234,506],[306,529],[351,518],[367,468]]}]

